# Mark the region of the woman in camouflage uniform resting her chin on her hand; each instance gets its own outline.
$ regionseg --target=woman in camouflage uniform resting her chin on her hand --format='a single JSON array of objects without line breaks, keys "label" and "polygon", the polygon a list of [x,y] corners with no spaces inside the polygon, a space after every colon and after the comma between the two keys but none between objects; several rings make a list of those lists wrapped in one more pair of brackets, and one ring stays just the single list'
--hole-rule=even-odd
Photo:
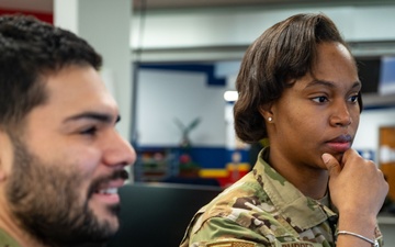
[{"label": "woman in camouflage uniform resting her chin on her hand", "polygon": [[237,136],[270,145],[196,213],[181,246],[381,246],[388,186],[351,148],[362,86],[334,22],[296,14],[276,23],[248,48],[236,87]]}]

